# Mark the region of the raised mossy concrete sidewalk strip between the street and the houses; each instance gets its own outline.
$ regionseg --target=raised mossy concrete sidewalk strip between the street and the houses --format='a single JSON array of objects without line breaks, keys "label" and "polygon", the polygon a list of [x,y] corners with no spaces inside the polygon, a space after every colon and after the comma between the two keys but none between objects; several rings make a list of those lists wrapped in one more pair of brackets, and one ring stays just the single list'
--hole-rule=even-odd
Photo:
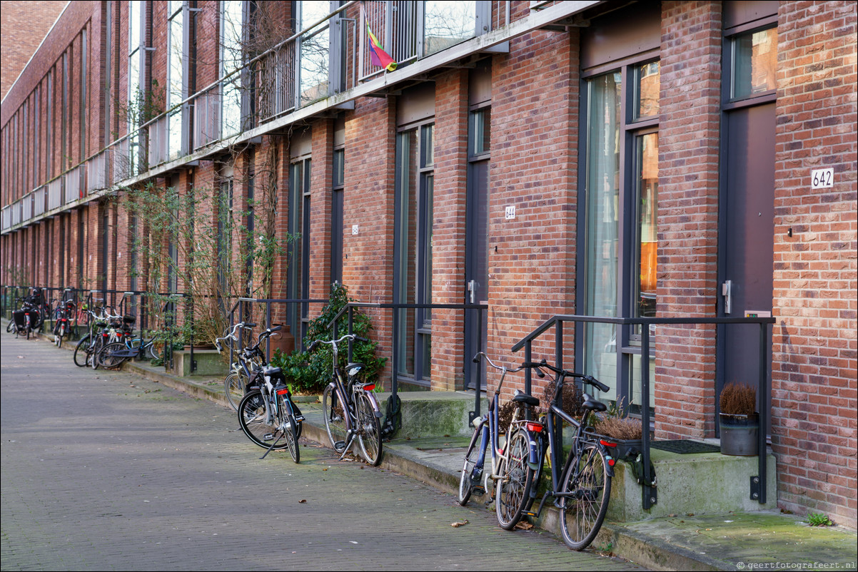
[{"label": "raised mossy concrete sidewalk strip between the street and the houses", "polygon": [[[73,350],[74,344],[63,345],[65,347]],[[219,378],[202,377],[190,381],[143,363],[125,364],[124,369],[186,394],[228,406]],[[306,417],[303,437],[327,443],[320,406],[312,403],[299,406]],[[394,439],[384,443],[382,466],[456,495],[466,446],[462,438]],[[480,499],[472,499],[471,505],[481,506]],[[537,526],[550,530],[554,522],[556,516],[544,515]],[[809,527],[793,515],[763,512],[606,522],[593,548],[611,551],[650,569],[854,570],[858,560],[856,543],[858,536],[854,531],[841,527]]]}]

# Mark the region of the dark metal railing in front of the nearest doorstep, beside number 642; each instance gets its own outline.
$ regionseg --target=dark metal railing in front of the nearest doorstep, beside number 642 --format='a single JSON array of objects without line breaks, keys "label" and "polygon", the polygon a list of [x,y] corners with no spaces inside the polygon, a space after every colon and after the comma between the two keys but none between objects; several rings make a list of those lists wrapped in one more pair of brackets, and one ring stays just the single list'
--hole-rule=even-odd
[{"label": "dark metal railing in front of the nearest doorstep, beside number 642", "polygon": [[[642,492],[644,510],[657,503],[657,494],[655,486],[650,486],[653,475],[650,474],[650,325],[673,324],[673,325],[730,325],[730,324],[756,324],[759,327],[759,383],[758,383],[758,411],[759,411],[759,426],[758,433],[758,491],[754,497],[752,490],[751,497],[757,500],[760,504],[765,503],[766,499],[766,427],[770,418],[769,411],[769,378],[768,370],[771,362],[771,346],[769,342],[770,324],[775,323],[773,317],[746,317],[746,318],[612,318],[612,317],[595,317],[595,316],[552,316],[541,326],[535,328],[530,334],[523,337],[522,340],[512,346],[513,352],[518,352],[524,349],[524,361],[533,361],[532,344],[533,341],[545,333],[549,328],[554,328],[554,361],[555,366],[563,367],[563,324],[564,322],[572,323],[609,323],[618,326],[633,326],[640,325],[641,331],[641,424],[643,426],[642,433],[642,451],[643,457],[643,483]],[[524,375],[524,391],[531,392],[531,370],[525,370]],[[558,428],[560,430],[560,428]]]}]

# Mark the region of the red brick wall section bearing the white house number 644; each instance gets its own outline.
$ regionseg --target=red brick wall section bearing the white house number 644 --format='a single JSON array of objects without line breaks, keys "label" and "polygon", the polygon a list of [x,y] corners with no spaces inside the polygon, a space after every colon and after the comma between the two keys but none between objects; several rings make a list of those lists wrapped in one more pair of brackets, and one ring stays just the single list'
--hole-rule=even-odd
[{"label": "red brick wall section bearing the white house number 644", "polygon": [[[505,363],[523,358],[510,351],[518,340],[575,307],[578,70],[574,29],[524,35],[492,63],[486,352]],[[507,206],[514,220],[505,220]],[[533,352],[553,361],[553,335]],[[505,392],[523,379],[505,382]]]}]

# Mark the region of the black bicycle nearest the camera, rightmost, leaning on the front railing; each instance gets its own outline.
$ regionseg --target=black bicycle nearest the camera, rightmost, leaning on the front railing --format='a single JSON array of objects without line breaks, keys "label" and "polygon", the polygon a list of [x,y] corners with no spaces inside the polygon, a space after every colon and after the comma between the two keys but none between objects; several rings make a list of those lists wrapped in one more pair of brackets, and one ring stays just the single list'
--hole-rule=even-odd
[{"label": "black bicycle nearest the camera, rightmost, leaning on the front railing", "polygon": [[[563,384],[567,377],[580,379],[583,384],[601,391],[608,391],[610,388],[593,376],[556,368],[547,364],[544,359],[538,364],[527,365],[537,370],[547,368],[553,371],[556,377],[553,399],[547,412],[539,421],[521,424],[513,436],[513,440],[522,439],[524,443],[529,443],[526,456],[532,478],[527,479],[523,491],[523,496],[528,501],[522,515],[538,518],[548,497],[553,497],[554,506],[560,510],[563,540],[571,549],[580,551],[593,542],[599,533],[607,513],[607,504],[611,499],[613,457],[607,453],[600,438],[588,431],[589,418],[596,412],[605,411],[607,406],[583,393],[583,413],[580,419],[576,419],[559,407],[558,395],[563,394]],[[554,431],[555,427],[562,428],[564,421],[571,424],[575,432],[569,454],[561,468],[558,461],[563,456],[563,443],[556,440]],[[539,482],[546,455],[551,468],[551,486],[543,494],[539,509],[533,512],[530,508],[536,498],[534,483]]]}]

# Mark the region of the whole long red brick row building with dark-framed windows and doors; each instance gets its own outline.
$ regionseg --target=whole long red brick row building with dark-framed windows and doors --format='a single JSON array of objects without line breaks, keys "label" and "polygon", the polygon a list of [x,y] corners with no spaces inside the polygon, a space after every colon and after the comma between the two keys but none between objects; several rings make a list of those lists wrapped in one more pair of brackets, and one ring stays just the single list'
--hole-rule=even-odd
[{"label": "whole long red brick row building with dark-framed windows and doors", "polygon": [[[184,292],[212,242],[232,295],[485,301],[484,322],[367,310],[385,376],[436,390],[473,387],[480,339],[511,361],[553,315],[770,312],[778,503],[855,527],[855,12],[71,3],[3,99],[3,284]],[[147,185],[206,224],[152,232],[130,206]],[[245,256],[268,238],[284,252]],[[318,308],[275,311],[300,344]],[[570,326],[565,363],[639,406],[640,328]],[[716,437],[723,384],[758,382],[758,334],[649,328],[656,437]]]}]

